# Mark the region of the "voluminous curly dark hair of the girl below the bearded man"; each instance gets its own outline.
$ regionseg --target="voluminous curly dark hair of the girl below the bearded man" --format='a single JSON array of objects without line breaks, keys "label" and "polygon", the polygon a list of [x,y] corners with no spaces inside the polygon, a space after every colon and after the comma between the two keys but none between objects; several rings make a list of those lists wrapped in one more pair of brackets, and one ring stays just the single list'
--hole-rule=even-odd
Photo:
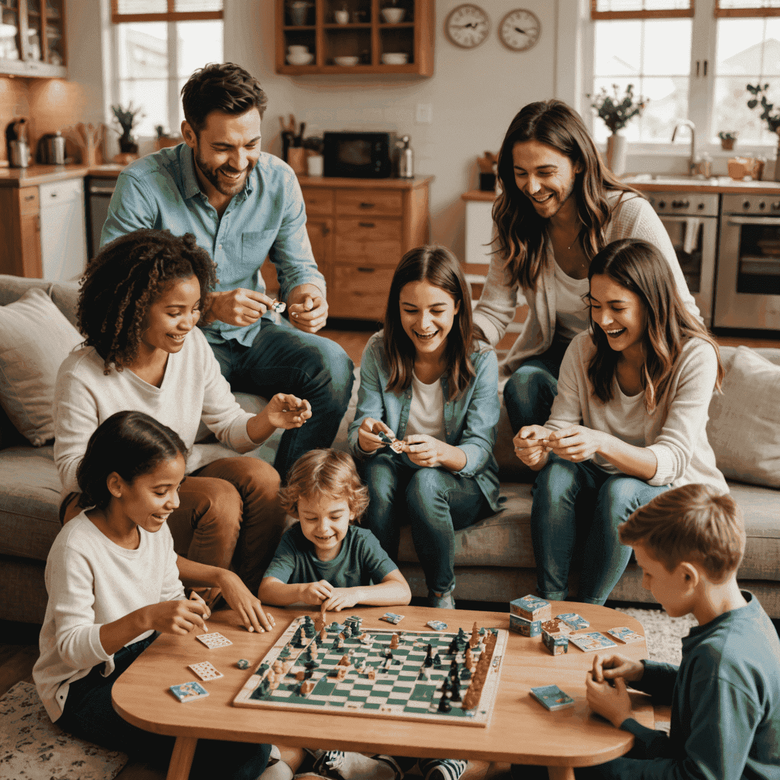
[{"label": "voluminous curly dark hair of the girl below the bearded man", "polygon": [[195,236],[168,230],[137,230],[106,244],[87,264],[76,311],[87,346],[104,360],[104,374],[138,356],[142,327],[151,303],[175,279],[195,275],[200,282],[200,310],[217,282],[215,264]]}]

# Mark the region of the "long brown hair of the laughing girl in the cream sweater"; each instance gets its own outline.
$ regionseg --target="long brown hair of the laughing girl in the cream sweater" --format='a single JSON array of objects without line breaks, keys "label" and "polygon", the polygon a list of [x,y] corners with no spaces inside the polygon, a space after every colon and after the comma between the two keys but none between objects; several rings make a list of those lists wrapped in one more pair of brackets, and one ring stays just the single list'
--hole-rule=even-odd
[{"label": "long brown hair of the laughing girl in the cream sweater", "polygon": [[[715,389],[723,381],[723,363],[718,343],[707,328],[686,309],[677,292],[672,269],[661,253],[646,241],[619,239],[605,246],[590,261],[588,281],[604,274],[636,293],[644,306],[647,330],[644,336],[644,406],[652,413],[672,380],[675,364],[687,339],[704,339],[718,357]],[[587,375],[594,395],[601,402],[612,400],[615,371],[620,353],[609,346],[607,335],[590,317],[591,339],[596,346]]]}]

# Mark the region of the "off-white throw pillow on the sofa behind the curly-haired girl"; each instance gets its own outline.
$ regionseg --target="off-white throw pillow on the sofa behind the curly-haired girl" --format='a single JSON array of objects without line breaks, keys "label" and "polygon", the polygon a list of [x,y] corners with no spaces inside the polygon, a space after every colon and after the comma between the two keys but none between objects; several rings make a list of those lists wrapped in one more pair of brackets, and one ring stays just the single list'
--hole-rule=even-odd
[{"label": "off-white throw pillow on the sofa behind the curly-haired girl", "polygon": [[0,306],[0,406],[36,447],[54,438],[60,364],[83,337],[40,287]]}]

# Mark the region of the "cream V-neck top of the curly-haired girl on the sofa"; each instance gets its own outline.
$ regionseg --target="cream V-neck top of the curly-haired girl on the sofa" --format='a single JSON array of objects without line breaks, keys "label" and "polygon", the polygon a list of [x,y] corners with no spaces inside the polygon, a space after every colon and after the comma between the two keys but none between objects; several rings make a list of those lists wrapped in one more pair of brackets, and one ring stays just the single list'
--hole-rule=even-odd
[{"label": "cream V-neck top of the curly-haired girl on the sofa", "polygon": [[[87,441],[115,412],[146,412],[176,431],[191,449],[187,473],[257,446],[246,432],[252,414],[236,402],[200,328],[193,328],[182,349],[168,356],[158,388],[129,368],[116,371],[112,365],[108,376],[103,370],[103,359],[94,347],[83,347],[66,357],[57,374],[54,460],[63,495],[79,490],[76,469],[87,452]],[[200,420],[225,446],[194,444]]]}]

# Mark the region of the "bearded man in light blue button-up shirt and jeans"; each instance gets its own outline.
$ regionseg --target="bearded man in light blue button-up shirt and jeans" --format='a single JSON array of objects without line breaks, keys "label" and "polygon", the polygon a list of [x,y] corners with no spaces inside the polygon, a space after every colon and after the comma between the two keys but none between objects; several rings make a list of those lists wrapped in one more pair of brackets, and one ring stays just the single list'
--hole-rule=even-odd
[{"label": "bearded man in light blue button-up shirt and jeans", "polygon": [[[304,452],[328,447],[353,385],[344,350],[314,335],[328,318],[325,281],[311,251],[303,195],[292,168],[261,152],[267,98],[232,63],[190,76],[182,90],[184,144],[129,165],[117,179],[101,246],[140,228],[193,233],[217,265],[218,285],[200,325],[237,391],[307,399],[312,416],[285,431],[275,467],[285,479]],[[260,269],[276,266],[290,327],[269,313]],[[268,313],[268,316],[264,316]]]}]

